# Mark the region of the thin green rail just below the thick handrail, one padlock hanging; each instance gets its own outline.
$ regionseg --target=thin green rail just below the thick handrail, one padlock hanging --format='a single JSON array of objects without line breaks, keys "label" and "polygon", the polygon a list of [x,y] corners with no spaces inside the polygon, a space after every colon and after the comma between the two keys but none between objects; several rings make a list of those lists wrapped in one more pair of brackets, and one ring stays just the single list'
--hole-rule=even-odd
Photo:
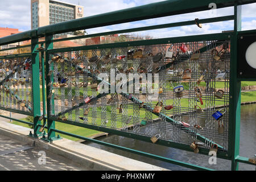
[{"label": "thin green rail just below the thick handrail, one padlock hanging", "polygon": [[[199,23],[213,23],[213,22],[222,22],[222,21],[228,21],[233,20],[234,16],[222,16],[217,18],[207,18],[207,19],[201,19],[198,22]],[[160,28],[170,28],[170,27],[179,27],[179,26],[188,26],[195,24],[195,20],[187,21],[187,22],[177,22],[177,23],[167,23],[167,24],[159,24],[156,26],[147,26],[147,27],[139,27],[139,28],[129,28],[125,30],[117,30],[117,31],[109,31],[109,32],[102,32],[99,34],[90,34],[90,35],[82,35],[82,36],[76,36],[72,38],[64,38],[64,39],[55,39],[53,42],[61,42],[65,40],[75,40],[75,39],[84,39],[84,38],[92,38],[96,36],[102,36],[102,35],[113,35],[113,34],[123,34],[123,33],[129,33],[129,32],[138,32],[138,31],[146,31],[146,30],[155,30]]]}]

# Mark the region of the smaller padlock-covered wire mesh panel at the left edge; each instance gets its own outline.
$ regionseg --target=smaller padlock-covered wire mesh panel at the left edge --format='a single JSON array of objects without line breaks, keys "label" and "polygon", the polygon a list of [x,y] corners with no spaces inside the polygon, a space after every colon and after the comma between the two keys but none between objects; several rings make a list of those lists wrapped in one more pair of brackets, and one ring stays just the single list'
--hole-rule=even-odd
[{"label": "smaller padlock-covered wire mesh panel at the left edge", "polygon": [[0,60],[0,106],[32,113],[31,59]]}]

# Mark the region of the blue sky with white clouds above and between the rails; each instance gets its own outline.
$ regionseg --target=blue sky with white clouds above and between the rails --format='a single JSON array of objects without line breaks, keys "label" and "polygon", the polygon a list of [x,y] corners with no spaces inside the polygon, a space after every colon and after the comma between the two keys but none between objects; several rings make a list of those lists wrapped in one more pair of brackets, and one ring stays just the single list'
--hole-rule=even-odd
[{"label": "blue sky with white clouds above and between the rails", "polygon": [[[110,11],[127,9],[129,7],[146,5],[148,3],[163,0],[61,0],[63,2],[79,4],[84,6],[84,17],[92,16]],[[213,18],[223,15],[233,15],[233,8],[217,9],[216,11],[201,11],[200,13],[189,13],[184,15],[167,16],[163,18],[148,19],[138,22],[122,23],[113,26],[93,28],[86,30],[88,34],[105,31],[122,30],[156,24],[174,23],[195,18]],[[31,29],[30,0],[0,0],[0,27],[19,28],[19,31]],[[242,30],[256,29],[256,3],[242,6]],[[175,36],[187,36],[198,34],[212,34],[224,30],[233,30],[233,21],[203,24],[203,28],[193,26],[182,26],[175,28],[163,28],[159,30],[134,32],[133,35],[151,36],[153,38],[167,38]]]}]

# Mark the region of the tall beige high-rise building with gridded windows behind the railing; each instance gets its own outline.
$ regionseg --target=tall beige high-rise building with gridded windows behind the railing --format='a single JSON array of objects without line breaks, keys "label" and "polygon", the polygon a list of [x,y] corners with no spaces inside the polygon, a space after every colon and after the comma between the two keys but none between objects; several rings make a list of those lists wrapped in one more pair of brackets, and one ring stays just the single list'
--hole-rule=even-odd
[{"label": "tall beige high-rise building with gridded windows behind the railing", "polygon": [[31,29],[82,18],[84,7],[61,1],[31,0]]}]

